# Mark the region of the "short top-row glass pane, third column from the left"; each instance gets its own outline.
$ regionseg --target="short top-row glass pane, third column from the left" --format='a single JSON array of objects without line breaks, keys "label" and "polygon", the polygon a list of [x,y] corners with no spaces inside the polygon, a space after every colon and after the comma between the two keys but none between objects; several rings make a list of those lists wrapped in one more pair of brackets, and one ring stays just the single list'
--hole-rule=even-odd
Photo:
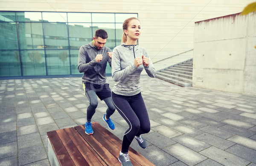
[{"label": "short top-row glass pane, third column from the left", "polygon": [[67,13],[43,12],[44,22],[67,22]]}]

